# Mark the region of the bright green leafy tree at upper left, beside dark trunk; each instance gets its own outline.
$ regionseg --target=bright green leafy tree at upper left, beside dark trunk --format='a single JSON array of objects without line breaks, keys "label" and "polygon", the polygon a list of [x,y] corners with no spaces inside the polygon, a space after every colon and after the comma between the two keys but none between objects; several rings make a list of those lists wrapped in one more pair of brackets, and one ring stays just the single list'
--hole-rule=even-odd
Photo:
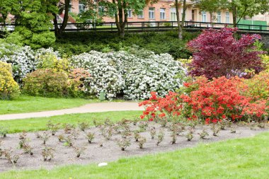
[{"label": "bright green leafy tree at upper left, beside dark trunk", "polygon": [[16,16],[14,33],[8,35],[7,41],[18,45],[30,45],[32,48],[49,47],[55,42],[55,34],[50,32],[52,28],[51,13],[57,12],[55,6],[57,0],[40,1],[25,0],[20,4],[11,3],[11,6],[18,6],[16,11],[10,11]]}]

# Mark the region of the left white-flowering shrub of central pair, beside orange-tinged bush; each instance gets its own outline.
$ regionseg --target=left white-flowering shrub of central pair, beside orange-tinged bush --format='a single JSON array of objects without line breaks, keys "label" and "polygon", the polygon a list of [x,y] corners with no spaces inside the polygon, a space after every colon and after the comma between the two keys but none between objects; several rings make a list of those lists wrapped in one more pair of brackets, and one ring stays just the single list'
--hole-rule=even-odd
[{"label": "left white-flowering shrub of central pair, beside orange-tinged bush", "polygon": [[110,64],[107,54],[91,51],[72,58],[76,67],[87,69],[91,77],[84,81],[85,92],[97,95],[105,91],[108,99],[113,99],[124,88],[124,80],[118,70]]}]

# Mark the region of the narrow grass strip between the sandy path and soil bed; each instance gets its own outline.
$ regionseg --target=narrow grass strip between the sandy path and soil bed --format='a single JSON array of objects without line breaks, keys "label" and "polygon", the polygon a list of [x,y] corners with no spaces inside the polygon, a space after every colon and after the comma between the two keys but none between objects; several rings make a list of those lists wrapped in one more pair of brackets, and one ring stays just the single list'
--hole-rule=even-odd
[{"label": "narrow grass strip between the sandy path and soil bed", "polygon": [[[54,123],[68,123],[71,125],[77,125],[78,122],[88,122],[89,125],[93,125],[93,120],[97,121],[109,119],[113,122],[125,119],[134,119],[139,117],[142,111],[113,111],[113,112],[93,112],[82,114],[70,114],[70,115],[56,115],[52,117],[38,117],[29,118],[23,120],[0,120],[0,127],[7,127],[9,133],[16,132],[35,132],[47,129],[47,122],[51,120]],[[62,127],[62,125],[60,125]]]}]

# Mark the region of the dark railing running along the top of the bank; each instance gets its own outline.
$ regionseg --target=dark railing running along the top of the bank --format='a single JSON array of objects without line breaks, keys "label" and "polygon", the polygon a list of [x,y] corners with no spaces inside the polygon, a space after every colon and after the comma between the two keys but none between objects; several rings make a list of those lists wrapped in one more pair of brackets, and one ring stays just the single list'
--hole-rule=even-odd
[{"label": "dark railing running along the top of the bank", "polygon": [[[62,25],[59,23],[58,25]],[[12,31],[16,25],[9,24],[4,26],[0,24],[0,31],[8,30]],[[178,27],[177,21],[139,21],[139,22],[128,22],[126,25],[126,31],[162,31],[171,30]],[[232,28],[231,23],[206,23],[206,22],[196,22],[196,21],[185,21],[185,29],[204,29],[204,28]],[[246,25],[238,24],[237,28],[244,31],[259,31],[259,32],[269,32],[268,25]],[[54,30],[54,29],[51,29]],[[116,31],[117,26],[115,22],[109,23],[68,23],[65,31]]]}]

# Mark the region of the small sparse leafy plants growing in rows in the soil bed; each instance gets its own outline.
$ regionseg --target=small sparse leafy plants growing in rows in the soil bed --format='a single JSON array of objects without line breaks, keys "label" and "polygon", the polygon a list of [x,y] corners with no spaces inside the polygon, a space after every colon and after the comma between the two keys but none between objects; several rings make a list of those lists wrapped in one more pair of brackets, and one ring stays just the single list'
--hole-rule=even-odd
[{"label": "small sparse leafy plants growing in rows in the soil bed", "polygon": [[[113,140],[119,146],[120,150],[125,151],[132,142],[135,142],[139,149],[144,148],[144,144],[147,140],[155,140],[156,146],[159,146],[165,136],[165,130],[171,137],[170,144],[176,144],[178,137],[185,137],[187,141],[191,141],[196,134],[200,136],[200,139],[207,139],[210,136],[208,127],[204,123],[199,123],[198,121],[192,120],[178,120],[178,118],[168,119],[168,118],[158,118],[155,122],[149,122],[145,120],[121,120],[120,122],[113,123],[110,120],[105,120],[105,122],[97,122],[94,120],[94,125],[98,128],[98,134],[103,137],[101,141],[98,142],[98,146],[102,147],[105,142]],[[240,123],[239,125],[248,125],[250,129],[257,129],[257,127],[265,129],[268,127],[266,122],[251,122],[251,123]],[[200,132],[195,132],[196,129],[200,127]],[[59,130],[63,128],[63,130]],[[74,142],[79,138],[79,135],[83,135],[85,141],[88,144],[92,144],[98,134],[92,132],[93,127],[90,127],[86,122],[79,122],[77,126],[59,123],[47,122],[47,131],[36,132],[35,137],[40,142],[40,147],[42,148],[41,154],[35,154],[33,152],[33,146],[29,144],[30,138],[26,132],[19,134],[18,139],[18,149],[22,150],[24,154],[41,155],[43,161],[51,161],[55,156],[55,151],[57,146],[51,147],[47,146],[47,142],[50,141],[51,137],[57,137],[59,143],[66,147],[74,149],[74,156],[79,158],[86,151],[86,146],[74,145]],[[236,133],[236,125],[229,120],[222,120],[211,125],[212,136],[217,137],[220,130],[230,129],[231,133]],[[143,137],[143,132],[149,132],[150,138],[147,139]],[[0,139],[0,157],[6,158],[7,161],[15,165],[20,158],[19,154],[13,154],[13,149],[4,149],[3,141],[7,137],[8,129],[1,127],[0,135],[3,137]],[[97,135],[97,136],[96,136]],[[120,139],[118,139],[120,135]],[[115,137],[115,139],[113,139]],[[6,141],[6,140],[5,140]],[[6,141],[7,142],[7,141]],[[22,155],[24,155],[22,154]]]}]

